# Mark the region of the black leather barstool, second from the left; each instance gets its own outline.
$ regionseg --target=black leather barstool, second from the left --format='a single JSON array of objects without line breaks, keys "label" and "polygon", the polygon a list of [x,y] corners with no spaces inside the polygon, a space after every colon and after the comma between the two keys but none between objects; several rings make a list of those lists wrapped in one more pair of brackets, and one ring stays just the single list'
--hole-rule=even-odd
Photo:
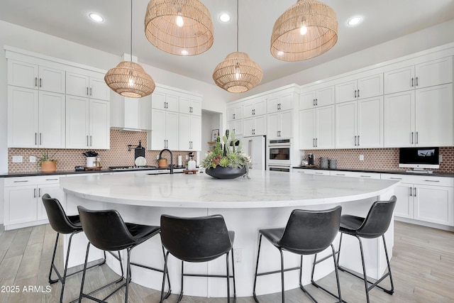
[{"label": "black leather barstool, second from the left", "polygon": [[[137,265],[141,268],[147,268],[150,270],[155,270],[157,272],[164,272],[164,270],[160,270],[157,268],[150,268],[145,265],[139,265],[137,263],[131,262],[131,250],[138,246],[140,243],[147,241],[149,238],[156,236],[160,233],[159,226],[148,226],[148,225],[140,225],[140,224],[132,224],[132,223],[125,223],[121,218],[118,211],[114,209],[109,210],[89,210],[84,208],[83,206],[77,206],[79,210],[79,217],[80,222],[82,224],[82,228],[84,228],[84,233],[87,235],[89,243],[87,244],[87,254],[85,256],[85,263],[84,263],[84,273],[82,275],[82,285],[80,287],[80,294],[79,294],[79,302],[81,302],[82,297],[92,299],[96,302],[105,302],[106,299],[111,297],[113,294],[121,290],[122,287],[126,287],[126,294],[125,294],[125,302],[128,302],[128,290],[129,290],[129,282],[131,282],[131,265]],[[87,268],[88,262],[88,254],[90,245],[95,246],[104,251],[113,252],[117,251],[118,256],[111,253],[119,262],[121,266],[121,277],[105,285],[100,287],[98,290],[94,290],[89,294],[84,294],[84,282],[85,282],[85,273]],[[126,281],[116,288],[111,294],[109,294],[104,299],[96,299],[92,297],[91,294],[97,292],[99,290],[104,290],[106,287],[114,285],[118,282],[121,282],[124,278],[123,272],[123,265],[121,263],[121,256],[120,250],[126,249],[127,251],[127,262],[126,262]],[[164,250],[162,250],[164,254]],[[169,281],[169,292],[167,292],[166,297],[170,295],[170,281]]]}]

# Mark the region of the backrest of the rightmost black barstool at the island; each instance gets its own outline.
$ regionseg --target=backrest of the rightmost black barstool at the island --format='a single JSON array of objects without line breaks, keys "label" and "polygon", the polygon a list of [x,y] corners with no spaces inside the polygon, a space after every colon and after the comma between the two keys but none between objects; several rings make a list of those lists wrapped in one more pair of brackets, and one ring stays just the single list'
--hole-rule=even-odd
[{"label": "backrest of the rightmost black barstool at the island", "polygon": [[358,228],[357,235],[362,238],[377,238],[386,233],[396,202],[396,196],[392,196],[389,201],[374,202],[364,222]]}]

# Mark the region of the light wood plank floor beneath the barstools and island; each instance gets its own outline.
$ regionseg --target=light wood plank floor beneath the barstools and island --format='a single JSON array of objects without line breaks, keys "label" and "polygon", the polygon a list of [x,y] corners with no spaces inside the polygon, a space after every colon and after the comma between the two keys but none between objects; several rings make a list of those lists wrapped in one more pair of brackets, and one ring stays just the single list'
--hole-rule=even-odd
[{"label": "light wood plank floor beneath the barstools and island", "polygon": [[[396,222],[392,274],[395,292],[386,294],[372,290],[371,302],[454,302],[454,233],[433,228]],[[0,302],[58,302],[60,283],[48,287],[48,271],[55,232],[49,225],[3,231],[0,226]],[[60,241],[61,242],[61,241]],[[60,257],[60,256],[59,256]],[[60,257],[60,263],[61,257]],[[343,272],[341,288],[347,302],[365,302],[363,284]],[[114,280],[116,275],[105,265],[89,271],[87,279],[92,283]],[[81,275],[67,281],[65,302],[78,297]],[[279,277],[276,277],[280,283]],[[96,282],[93,282],[96,281]],[[334,274],[319,281],[335,290]],[[28,289],[31,286],[33,289]],[[11,292],[18,290],[18,292]],[[24,289],[25,287],[25,289]],[[319,302],[333,302],[333,298],[315,287],[308,286]],[[111,297],[109,302],[123,302],[124,290]],[[102,297],[102,293],[99,293]],[[129,302],[159,302],[160,292],[131,283]],[[166,303],[176,302],[177,295]],[[287,302],[311,302],[300,290],[286,292]],[[238,298],[238,303],[253,303],[252,297]],[[88,301],[87,301],[88,302]],[[226,302],[225,299],[184,297],[183,302]],[[260,296],[260,302],[280,302],[280,294]]]}]

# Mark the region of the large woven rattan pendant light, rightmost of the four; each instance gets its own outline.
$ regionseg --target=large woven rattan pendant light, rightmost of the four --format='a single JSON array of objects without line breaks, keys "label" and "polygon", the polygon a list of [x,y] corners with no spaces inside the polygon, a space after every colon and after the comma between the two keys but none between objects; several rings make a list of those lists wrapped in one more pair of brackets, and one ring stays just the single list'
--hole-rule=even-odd
[{"label": "large woven rattan pendant light, rightmost of the four", "polygon": [[298,0],[272,28],[271,54],[301,61],[330,50],[338,40],[338,21],[331,7],[316,0]]}]

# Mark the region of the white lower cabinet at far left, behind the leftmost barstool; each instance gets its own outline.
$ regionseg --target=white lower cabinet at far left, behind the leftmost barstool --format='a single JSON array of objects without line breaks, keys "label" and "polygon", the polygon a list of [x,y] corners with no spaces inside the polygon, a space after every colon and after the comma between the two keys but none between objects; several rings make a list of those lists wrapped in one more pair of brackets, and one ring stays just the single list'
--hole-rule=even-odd
[{"label": "white lower cabinet at far left, behind the leftmost barstool", "polygon": [[48,223],[42,197],[50,194],[65,207],[65,196],[58,182],[61,175],[11,177],[4,180],[5,230]]}]

